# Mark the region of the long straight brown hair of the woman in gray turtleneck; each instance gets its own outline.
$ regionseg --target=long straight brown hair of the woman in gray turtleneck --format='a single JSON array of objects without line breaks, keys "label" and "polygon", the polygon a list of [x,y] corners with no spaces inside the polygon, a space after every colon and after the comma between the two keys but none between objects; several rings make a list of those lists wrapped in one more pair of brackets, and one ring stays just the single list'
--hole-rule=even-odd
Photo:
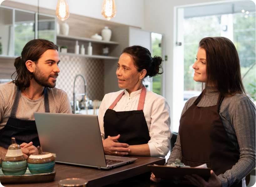
[{"label": "long straight brown hair of the woman in gray turtleneck", "polygon": [[205,88],[210,84],[215,85],[224,97],[236,93],[246,95],[241,78],[240,61],[233,42],[225,37],[207,37],[200,41],[199,47],[206,52]]}]

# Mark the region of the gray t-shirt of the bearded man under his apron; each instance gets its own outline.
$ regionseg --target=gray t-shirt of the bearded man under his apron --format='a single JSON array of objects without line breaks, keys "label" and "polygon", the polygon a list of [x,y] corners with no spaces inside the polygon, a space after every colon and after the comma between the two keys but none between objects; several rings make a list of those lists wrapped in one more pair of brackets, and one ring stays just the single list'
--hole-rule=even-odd
[{"label": "gray t-shirt of the bearded man under his apron", "polygon": [[[0,84],[0,130],[6,125],[10,117],[17,86],[13,82]],[[71,113],[68,95],[57,88],[47,88],[50,113]],[[16,118],[35,120],[34,112],[44,111],[44,94],[37,100],[26,98],[20,94]]]}]

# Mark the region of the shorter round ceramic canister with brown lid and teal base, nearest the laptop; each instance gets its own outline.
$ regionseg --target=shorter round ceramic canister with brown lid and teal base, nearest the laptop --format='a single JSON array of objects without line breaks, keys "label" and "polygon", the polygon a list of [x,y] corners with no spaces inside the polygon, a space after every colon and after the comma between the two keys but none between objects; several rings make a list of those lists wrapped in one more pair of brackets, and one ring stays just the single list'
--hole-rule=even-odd
[{"label": "shorter round ceramic canister with brown lid and teal base, nearest the laptop", "polygon": [[38,153],[28,157],[28,169],[32,174],[50,173],[54,169],[55,159],[51,153],[42,152],[40,146],[37,147]]}]

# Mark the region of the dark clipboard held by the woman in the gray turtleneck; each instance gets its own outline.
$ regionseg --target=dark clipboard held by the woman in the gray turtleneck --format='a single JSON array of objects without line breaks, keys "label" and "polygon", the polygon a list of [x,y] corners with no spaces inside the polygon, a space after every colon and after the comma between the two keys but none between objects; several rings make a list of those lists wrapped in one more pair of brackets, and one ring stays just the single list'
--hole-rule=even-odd
[{"label": "dark clipboard held by the woman in the gray turtleneck", "polygon": [[168,180],[187,180],[185,175],[197,174],[205,181],[211,176],[210,168],[176,167],[163,165],[147,165],[150,171],[158,178]]}]

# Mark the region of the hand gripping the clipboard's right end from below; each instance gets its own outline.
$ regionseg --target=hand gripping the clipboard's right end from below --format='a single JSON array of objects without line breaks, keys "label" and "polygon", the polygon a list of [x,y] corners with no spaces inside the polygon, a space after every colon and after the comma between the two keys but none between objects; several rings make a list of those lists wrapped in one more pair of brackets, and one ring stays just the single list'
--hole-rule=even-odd
[{"label": "hand gripping the clipboard's right end from below", "polygon": [[221,180],[218,178],[217,175],[211,170],[211,176],[208,181],[205,181],[202,177],[199,175],[186,175],[185,178],[189,180],[192,185],[198,186],[198,187],[222,187]]}]

